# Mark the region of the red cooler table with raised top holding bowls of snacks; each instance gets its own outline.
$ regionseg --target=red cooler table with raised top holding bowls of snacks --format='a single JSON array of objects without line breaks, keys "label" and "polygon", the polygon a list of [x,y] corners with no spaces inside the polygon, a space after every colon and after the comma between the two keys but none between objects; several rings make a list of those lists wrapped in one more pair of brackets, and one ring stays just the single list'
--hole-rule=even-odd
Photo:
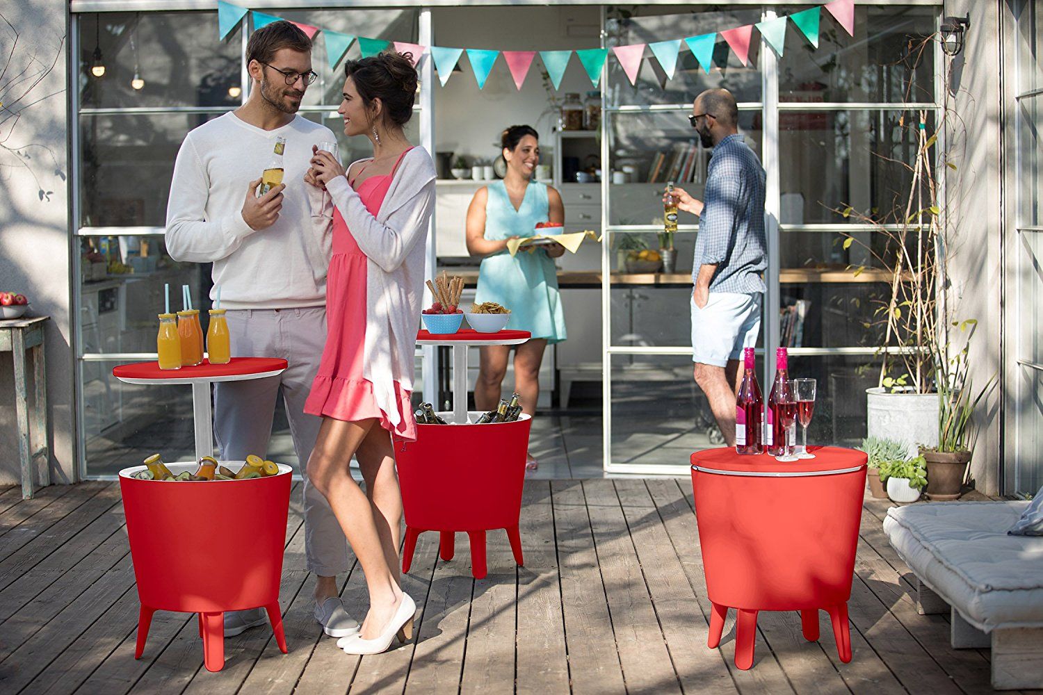
[{"label": "red cooler table with raised top holding bowls of snacks", "polygon": [[439,531],[439,554],[452,560],[454,538],[470,540],[471,574],[486,575],[485,533],[503,528],[518,565],[523,563],[518,518],[529,447],[528,415],[516,422],[472,425],[481,413],[467,412],[467,348],[519,345],[531,338],[525,330],[480,333],[463,329],[433,334],[421,330],[418,345],[453,346],[453,413],[439,413],[450,425],[417,423],[416,441],[396,445],[395,463],[406,516],[402,570],[408,572],[416,540],[426,530]]}]

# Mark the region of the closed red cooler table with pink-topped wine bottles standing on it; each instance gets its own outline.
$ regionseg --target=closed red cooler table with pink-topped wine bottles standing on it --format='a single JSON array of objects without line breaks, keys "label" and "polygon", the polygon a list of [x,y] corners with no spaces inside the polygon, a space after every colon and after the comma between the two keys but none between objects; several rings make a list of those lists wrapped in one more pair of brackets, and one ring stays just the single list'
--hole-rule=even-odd
[{"label": "closed red cooler table with pink-topped wine bottles standing on it", "polygon": [[851,596],[866,454],[811,448],[815,458],[780,463],[734,449],[692,454],[692,486],[712,603],[708,646],[738,611],[735,666],[753,665],[758,611],[800,611],[804,637],[819,639],[819,611],[832,619],[841,661],[851,661]]}]

